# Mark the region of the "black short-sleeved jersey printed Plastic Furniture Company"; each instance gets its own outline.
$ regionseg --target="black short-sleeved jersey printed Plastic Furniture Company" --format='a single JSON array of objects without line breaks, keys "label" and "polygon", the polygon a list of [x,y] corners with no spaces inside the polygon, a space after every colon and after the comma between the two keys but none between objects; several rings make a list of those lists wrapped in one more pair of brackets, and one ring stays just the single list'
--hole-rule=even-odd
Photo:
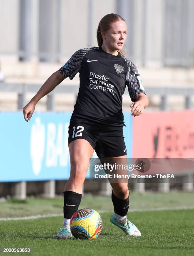
[{"label": "black short-sleeved jersey printed Plastic Furniture Company", "polygon": [[80,73],[80,88],[73,111],[78,118],[121,125],[122,95],[126,85],[132,101],[135,95],[145,94],[135,65],[119,52],[115,56],[102,47],[76,51],[59,70],[70,79]]}]

